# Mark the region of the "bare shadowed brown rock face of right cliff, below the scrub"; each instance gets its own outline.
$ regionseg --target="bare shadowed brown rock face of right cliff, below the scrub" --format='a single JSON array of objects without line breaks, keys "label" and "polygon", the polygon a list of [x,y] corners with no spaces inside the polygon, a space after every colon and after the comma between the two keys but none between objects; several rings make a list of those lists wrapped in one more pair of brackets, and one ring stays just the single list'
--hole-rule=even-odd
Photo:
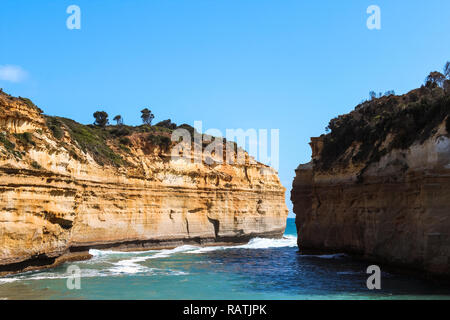
[{"label": "bare shadowed brown rock face of right cliff, below the scrub", "polygon": [[[390,134],[387,140],[394,138]],[[353,143],[327,169],[320,168],[324,139],[312,139],[313,160],[297,168],[292,186],[300,249],[348,252],[449,278],[445,121],[425,141],[389,150],[374,161],[343,161],[358,152]]]}]

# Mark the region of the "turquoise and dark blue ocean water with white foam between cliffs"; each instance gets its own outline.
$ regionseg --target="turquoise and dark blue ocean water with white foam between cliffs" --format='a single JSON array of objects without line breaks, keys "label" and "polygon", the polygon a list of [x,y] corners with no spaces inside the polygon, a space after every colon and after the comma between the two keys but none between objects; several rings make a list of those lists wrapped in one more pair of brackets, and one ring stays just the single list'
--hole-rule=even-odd
[{"label": "turquoise and dark blue ocean water with white foam between cliffs", "polygon": [[[450,287],[382,272],[368,290],[368,263],[345,254],[300,255],[294,219],[282,239],[227,247],[91,250],[88,261],[0,278],[0,299],[450,299]],[[70,269],[80,289],[68,289]]]}]

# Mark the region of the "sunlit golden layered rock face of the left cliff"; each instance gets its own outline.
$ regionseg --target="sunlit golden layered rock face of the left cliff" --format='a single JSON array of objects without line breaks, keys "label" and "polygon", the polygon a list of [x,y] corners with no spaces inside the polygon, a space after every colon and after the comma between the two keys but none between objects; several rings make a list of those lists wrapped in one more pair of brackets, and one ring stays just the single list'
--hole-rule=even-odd
[{"label": "sunlit golden layered rock face of the left cliff", "polygon": [[[39,110],[0,94],[0,272],[52,265],[88,248],[153,248],[283,234],[277,173],[172,160],[134,134],[126,166],[100,165]],[[21,144],[27,132],[31,144]],[[19,135],[18,135],[19,134]],[[113,147],[111,147],[113,148]]]}]

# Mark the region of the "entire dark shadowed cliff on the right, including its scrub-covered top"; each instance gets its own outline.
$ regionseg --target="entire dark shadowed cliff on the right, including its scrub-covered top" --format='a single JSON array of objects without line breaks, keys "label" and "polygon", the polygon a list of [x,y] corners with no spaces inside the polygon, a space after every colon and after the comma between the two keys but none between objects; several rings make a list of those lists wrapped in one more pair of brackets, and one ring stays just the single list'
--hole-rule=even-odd
[{"label": "entire dark shadowed cliff on the right, including its scrub-covered top", "polygon": [[300,249],[450,277],[449,114],[448,92],[422,87],[333,119],[296,170]]}]

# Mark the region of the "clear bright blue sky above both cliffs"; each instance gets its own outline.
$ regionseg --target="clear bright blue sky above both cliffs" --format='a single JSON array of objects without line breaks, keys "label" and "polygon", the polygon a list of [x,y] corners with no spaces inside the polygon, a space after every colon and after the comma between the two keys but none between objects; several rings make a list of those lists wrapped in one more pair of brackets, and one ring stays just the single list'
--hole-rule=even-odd
[{"label": "clear bright blue sky above both cliffs", "polygon": [[[72,4],[80,30],[66,27]],[[82,123],[104,109],[139,124],[145,106],[155,121],[280,129],[289,192],[331,118],[442,70],[449,12],[448,0],[2,0],[0,88]]]}]

